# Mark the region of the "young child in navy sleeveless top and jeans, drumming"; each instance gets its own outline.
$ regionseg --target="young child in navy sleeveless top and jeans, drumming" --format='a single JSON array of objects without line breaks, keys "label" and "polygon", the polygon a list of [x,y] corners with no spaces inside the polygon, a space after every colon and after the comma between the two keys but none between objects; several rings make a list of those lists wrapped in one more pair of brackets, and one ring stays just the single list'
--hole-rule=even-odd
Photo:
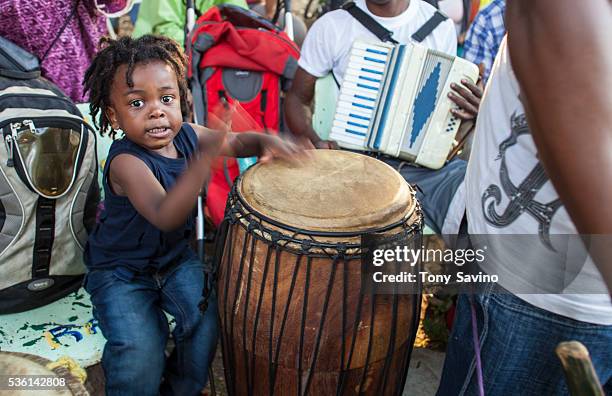
[{"label": "young child in navy sleeveless top and jeans, drumming", "polygon": [[[202,314],[203,267],[189,247],[194,205],[216,155],[291,158],[277,137],[182,123],[185,58],[167,38],[104,40],[85,75],[100,131],[117,130],[104,167],[105,208],[89,237],[85,289],[107,339],[108,395],[195,395],[217,342],[214,296]],[[166,360],[168,321],[176,347]],[[162,383],[163,378],[163,383]]]}]

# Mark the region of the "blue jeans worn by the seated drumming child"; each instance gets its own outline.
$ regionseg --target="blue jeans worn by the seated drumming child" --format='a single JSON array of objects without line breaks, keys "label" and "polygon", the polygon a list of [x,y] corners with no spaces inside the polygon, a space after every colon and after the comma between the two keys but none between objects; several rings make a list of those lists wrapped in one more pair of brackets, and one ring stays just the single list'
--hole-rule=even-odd
[{"label": "blue jeans worn by the seated drumming child", "polygon": [[[107,340],[102,355],[107,395],[200,393],[218,336],[216,298],[211,296],[204,315],[198,307],[203,285],[198,260],[165,274],[134,274],[124,268],[87,273],[85,289]],[[176,321],[176,347],[168,359],[169,328],[162,310]]]}]

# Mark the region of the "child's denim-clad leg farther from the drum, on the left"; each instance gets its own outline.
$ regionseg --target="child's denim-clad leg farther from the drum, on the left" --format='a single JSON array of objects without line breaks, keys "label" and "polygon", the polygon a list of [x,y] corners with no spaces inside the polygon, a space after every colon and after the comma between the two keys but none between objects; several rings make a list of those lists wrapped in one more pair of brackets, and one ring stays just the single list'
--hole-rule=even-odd
[{"label": "child's denim-clad leg farther from the drum, on the left", "polygon": [[118,270],[94,270],[87,274],[85,289],[106,337],[102,355],[106,394],[157,395],[168,322],[156,306],[155,285],[137,282]]}]

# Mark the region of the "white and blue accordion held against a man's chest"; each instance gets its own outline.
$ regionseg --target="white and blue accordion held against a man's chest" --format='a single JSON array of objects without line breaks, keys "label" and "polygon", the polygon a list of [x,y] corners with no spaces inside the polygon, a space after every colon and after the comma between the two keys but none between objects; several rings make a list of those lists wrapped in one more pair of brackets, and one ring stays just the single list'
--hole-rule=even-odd
[{"label": "white and blue accordion held against a man's chest", "polygon": [[439,169],[461,121],[450,112],[450,85],[477,78],[475,64],[421,45],[356,41],[330,138]]}]

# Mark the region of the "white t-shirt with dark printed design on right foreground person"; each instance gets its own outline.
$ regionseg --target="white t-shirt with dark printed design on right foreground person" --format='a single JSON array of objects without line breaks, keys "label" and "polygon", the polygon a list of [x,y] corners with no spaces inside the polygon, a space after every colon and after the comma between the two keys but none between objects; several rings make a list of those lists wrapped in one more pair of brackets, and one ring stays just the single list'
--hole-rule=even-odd
[{"label": "white t-shirt with dark printed design on right foreground person", "polygon": [[[610,297],[591,259],[586,252],[572,256],[576,245],[568,248],[554,239],[577,231],[541,167],[519,95],[504,38],[480,105],[465,177],[469,232],[488,242],[483,269],[500,274],[501,286],[532,305],[583,322],[612,325]],[[528,235],[528,245],[491,243],[499,241],[500,234]],[[568,269],[575,270],[573,276],[567,276]],[[559,279],[564,293],[602,294],[521,294]]]}]

